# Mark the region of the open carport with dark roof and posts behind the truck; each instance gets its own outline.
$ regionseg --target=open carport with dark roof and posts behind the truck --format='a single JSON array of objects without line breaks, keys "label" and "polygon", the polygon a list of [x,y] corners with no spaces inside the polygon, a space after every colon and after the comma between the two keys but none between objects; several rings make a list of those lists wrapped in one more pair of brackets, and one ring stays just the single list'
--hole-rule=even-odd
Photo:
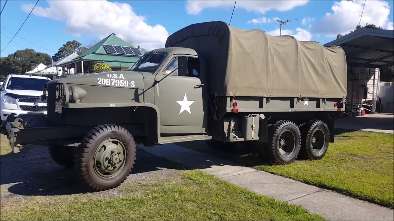
[{"label": "open carport with dark roof and posts behind the truck", "polygon": [[[346,53],[346,60],[349,67],[360,68],[387,68],[394,65],[394,31],[386,29],[362,28],[353,33],[345,35],[339,39],[328,42],[324,46],[340,46]],[[380,71],[379,71],[380,74]],[[379,82],[379,74],[376,79]],[[351,107],[354,103],[354,74],[351,75]],[[375,95],[375,75],[372,111],[375,112],[376,96]],[[349,78],[349,76],[348,76]],[[379,91],[379,83],[377,84]]]}]

